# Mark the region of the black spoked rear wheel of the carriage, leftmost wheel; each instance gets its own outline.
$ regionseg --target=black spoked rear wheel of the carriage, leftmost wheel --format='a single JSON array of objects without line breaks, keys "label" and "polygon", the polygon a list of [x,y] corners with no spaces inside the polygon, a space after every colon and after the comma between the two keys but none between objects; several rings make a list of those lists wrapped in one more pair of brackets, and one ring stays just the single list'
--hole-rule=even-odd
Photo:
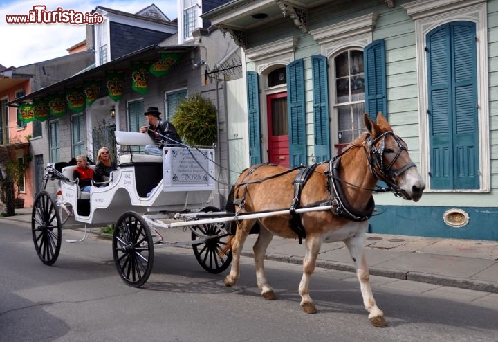
[{"label": "black spoked rear wheel of the carriage, leftmost wheel", "polygon": [[35,198],[31,231],[38,257],[50,266],[59,256],[62,224],[57,204],[46,190],[40,191]]}]

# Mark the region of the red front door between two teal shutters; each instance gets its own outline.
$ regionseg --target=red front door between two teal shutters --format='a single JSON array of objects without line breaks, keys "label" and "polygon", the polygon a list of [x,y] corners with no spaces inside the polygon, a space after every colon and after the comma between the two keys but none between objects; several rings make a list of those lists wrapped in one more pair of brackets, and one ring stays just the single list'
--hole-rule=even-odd
[{"label": "red front door between two teal shutters", "polygon": [[289,167],[287,93],[266,98],[268,111],[268,161]]}]

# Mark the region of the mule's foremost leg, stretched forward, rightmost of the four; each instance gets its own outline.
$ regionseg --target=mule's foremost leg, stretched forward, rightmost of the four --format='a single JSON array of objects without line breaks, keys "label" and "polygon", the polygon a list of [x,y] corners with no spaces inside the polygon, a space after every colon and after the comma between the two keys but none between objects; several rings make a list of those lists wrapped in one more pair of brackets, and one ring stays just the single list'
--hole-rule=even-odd
[{"label": "mule's foremost leg, stretched forward, rightmost of the four", "polygon": [[376,327],[387,327],[384,319],[384,313],[377,307],[370,287],[370,274],[365,257],[365,233],[360,232],[344,240],[351,258],[355,264],[356,276],[360,280],[360,289],[363,297],[365,309],[369,312],[369,320]]}]

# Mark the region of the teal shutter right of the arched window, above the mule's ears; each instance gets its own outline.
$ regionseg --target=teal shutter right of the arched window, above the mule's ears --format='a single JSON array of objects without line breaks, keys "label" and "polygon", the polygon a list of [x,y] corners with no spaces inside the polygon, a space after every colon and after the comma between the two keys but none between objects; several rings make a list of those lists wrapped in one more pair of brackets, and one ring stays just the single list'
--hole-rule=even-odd
[{"label": "teal shutter right of the arched window, above the mule's ears", "polygon": [[365,46],[363,63],[365,66],[365,111],[374,121],[379,111],[382,111],[387,118],[384,39],[378,39]]}]

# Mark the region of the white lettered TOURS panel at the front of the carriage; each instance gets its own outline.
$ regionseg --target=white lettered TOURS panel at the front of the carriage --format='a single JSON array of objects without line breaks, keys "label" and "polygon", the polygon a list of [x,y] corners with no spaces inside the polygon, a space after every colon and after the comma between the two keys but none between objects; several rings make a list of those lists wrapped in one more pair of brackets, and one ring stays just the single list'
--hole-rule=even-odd
[{"label": "white lettered TOURS panel at the front of the carriage", "polygon": [[163,191],[214,190],[214,150],[163,149]]}]

